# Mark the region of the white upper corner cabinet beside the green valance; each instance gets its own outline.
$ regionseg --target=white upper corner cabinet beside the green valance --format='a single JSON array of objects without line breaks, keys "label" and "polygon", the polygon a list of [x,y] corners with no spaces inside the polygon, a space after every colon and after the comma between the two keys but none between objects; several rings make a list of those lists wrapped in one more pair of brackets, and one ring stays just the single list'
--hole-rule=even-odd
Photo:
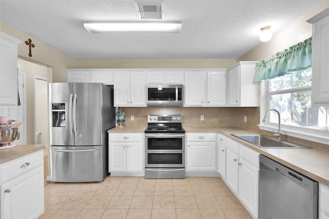
[{"label": "white upper corner cabinet beside the green valance", "polygon": [[238,62],[228,69],[228,106],[259,106],[259,87],[252,82],[256,64]]}]

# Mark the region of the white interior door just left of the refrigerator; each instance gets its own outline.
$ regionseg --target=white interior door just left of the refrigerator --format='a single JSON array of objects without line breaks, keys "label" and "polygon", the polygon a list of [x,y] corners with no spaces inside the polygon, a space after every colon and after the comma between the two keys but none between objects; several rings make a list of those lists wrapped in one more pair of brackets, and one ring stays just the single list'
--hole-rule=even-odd
[{"label": "white interior door just left of the refrigerator", "polygon": [[48,144],[48,83],[34,76],[34,143]]}]

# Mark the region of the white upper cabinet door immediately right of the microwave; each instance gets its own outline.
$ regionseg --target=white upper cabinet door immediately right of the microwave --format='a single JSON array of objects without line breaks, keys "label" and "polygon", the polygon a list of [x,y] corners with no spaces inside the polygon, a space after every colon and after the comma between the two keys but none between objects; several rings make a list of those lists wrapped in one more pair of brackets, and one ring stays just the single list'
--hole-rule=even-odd
[{"label": "white upper cabinet door immediately right of the microwave", "polygon": [[184,86],[184,106],[205,105],[206,71],[186,71]]}]

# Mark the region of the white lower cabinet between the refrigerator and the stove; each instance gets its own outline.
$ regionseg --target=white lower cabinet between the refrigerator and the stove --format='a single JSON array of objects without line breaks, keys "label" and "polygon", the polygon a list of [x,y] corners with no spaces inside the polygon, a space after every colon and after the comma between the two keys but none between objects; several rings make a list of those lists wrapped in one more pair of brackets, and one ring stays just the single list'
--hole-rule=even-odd
[{"label": "white lower cabinet between the refrigerator and the stove", "polygon": [[[109,134],[109,172],[143,172],[143,134]],[[115,174],[114,174],[115,175]]]}]

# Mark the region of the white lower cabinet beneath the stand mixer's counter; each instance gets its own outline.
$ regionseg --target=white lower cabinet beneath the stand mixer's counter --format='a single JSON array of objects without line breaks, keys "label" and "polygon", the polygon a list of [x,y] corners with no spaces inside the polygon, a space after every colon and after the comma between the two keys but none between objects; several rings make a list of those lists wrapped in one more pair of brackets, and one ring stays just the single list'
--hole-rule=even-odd
[{"label": "white lower cabinet beneath the stand mixer's counter", "polygon": [[43,150],[0,166],[0,218],[38,218],[44,212]]}]

